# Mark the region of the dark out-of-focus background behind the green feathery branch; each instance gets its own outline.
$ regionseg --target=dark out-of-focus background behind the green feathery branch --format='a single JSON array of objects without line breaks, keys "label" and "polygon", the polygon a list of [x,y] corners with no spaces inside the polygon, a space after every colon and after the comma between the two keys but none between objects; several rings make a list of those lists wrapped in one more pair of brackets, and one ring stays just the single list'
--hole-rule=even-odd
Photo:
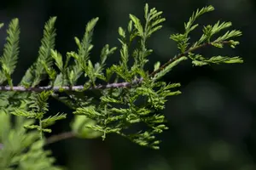
[{"label": "dark out-of-focus background behind the green feathery branch", "polygon": [[[164,114],[170,129],[159,137],[160,150],[141,147],[115,134],[108,135],[104,142],[101,138],[67,139],[48,147],[56,163],[71,170],[256,169],[256,2],[253,0],[2,0],[0,21],[8,26],[11,19],[20,19],[20,59],[15,83],[37,58],[44,22],[50,16],[58,17],[56,49],[61,54],[76,50],[73,37],[82,37],[86,23],[100,17],[91,55],[96,61],[104,44],[119,47],[118,27],[127,26],[129,14],[143,18],[145,3],[163,11],[166,18],[164,27],[148,41],[148,47],[154,49],[149,56],[149,71],[157,60],[164,63],[177,54],[177,46],[169,36],[183,31],[184,21],[189,20],[196,8],[209,4],[216,10],[202,16],[199,23],[232,21],[232,28],[241,30],[243,36],[237,38],[241,44],[236,49],[204,48],[201,52],[206,56],[240,55],[244,64],[193,67],[185,61],[165,77],[166,82],[181,82],[183,94],[166,103]],[[194,39],[200,36],[201,31],[193,34]],[[2,29],[2,48],[5,37]],[[108,62],[119,62],[119,52]],[[72,111],[55,100],[50,101],[50,110],[70,113],[67,120],[55,124],[53,132],[70,130]]]}]

